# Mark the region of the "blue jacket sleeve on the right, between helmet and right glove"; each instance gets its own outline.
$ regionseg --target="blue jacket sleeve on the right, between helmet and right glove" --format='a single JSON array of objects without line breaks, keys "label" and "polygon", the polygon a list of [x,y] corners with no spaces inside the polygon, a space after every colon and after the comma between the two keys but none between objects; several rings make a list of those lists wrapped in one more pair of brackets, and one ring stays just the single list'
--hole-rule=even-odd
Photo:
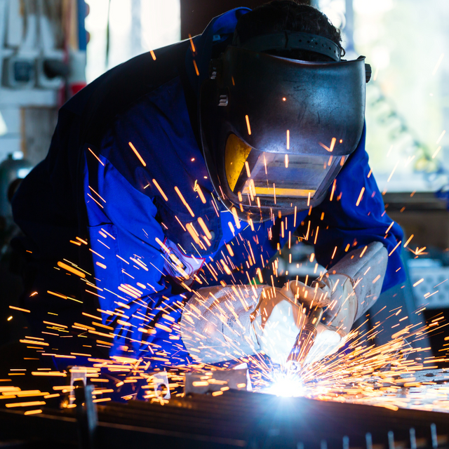
[{"label": "blue jacket sleeve on the right, between helmet and right glove", "polygon": [[[385,213],[382,194],[368,165],[365,138],[366,128],[356,151],[338,174],[333,194],[331,185],[323,203],[312,209],[314,235],[309,241],[316,237],[316,259],[328,269],[347,251],[363,248],[373,241],[382,242],[389,253],[383,292],[406,279],[400,257],[401,244],[398,245],[403,241],[403,232]],[[316,227],[319,227],[318,236]]]}]

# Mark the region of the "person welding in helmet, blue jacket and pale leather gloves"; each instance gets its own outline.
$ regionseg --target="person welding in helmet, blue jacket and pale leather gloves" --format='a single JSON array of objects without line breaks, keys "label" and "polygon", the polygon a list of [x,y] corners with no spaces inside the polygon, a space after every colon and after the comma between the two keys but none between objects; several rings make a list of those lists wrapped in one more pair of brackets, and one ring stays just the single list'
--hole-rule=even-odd
[{"label": "person welding in helmet, blue jacket and pale leather gloves", "polygon": [[[309,359],[335,351],[404,279],[365,151],[368,66],[343,56],[325,15],[272,1],[67,102],[13,199],[36,336],[152,367],[286,363],[315,307]],[[326,274],[256,283],[298,227]]]}]

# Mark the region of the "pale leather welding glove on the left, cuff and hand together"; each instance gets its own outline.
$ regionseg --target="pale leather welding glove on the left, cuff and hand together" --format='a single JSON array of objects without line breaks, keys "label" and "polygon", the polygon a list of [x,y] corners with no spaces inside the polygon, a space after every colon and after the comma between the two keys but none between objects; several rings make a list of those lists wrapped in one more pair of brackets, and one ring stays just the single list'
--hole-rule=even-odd
[{"label": "pale leather welding glove on the left, cuff and hand together", "polygon": [[[298,285],[307,304],[315,295],[321,297],[316,304],[329,302],[318,287]],[[182,342],[192,358],[203,363],[261,351],[276,363],[285,363],[304,323],[303,307],[288,286],[200,288],[182,312]]]}]

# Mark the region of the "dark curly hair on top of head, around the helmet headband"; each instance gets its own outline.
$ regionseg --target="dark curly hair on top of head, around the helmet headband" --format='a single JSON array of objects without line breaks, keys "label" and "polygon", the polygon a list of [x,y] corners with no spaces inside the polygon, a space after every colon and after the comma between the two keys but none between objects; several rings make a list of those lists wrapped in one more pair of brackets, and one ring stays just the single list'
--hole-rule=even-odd
[{"label": "dark curly hair on top of head, around the helmet headband", "polygon": [[[294,0],[270,1],[242,15],[236,25],[234,43],[239,42],[241,45],[251,37],[277,31],[304,32],[327,37],[340,47],[344,55],[340,31],[330,23],[326,15],[313,6],[299,4]],[[331,58],[312,51],[291,50],[267,53],[305,61],[332,61]]]}]

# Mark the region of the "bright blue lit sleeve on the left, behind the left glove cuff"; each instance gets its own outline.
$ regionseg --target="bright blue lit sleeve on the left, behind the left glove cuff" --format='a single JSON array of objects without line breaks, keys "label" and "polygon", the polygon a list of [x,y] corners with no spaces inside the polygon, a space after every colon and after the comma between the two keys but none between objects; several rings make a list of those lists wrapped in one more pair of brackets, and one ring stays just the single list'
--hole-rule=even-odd
[{"label": "bright blue lit sleeve on the left, behind the left glove cuff", "polygon": [[110,347],[110,356],[143,357],[152,367],[189,363],[177,324],[187,295],[173,291],[166,273],[156,206],[99,158],[97,170],[86,166],[84,177],[95,276],[88,290],[98,298],[105,334],[113,339],[111,344],[100,335],[97,342]]}]

